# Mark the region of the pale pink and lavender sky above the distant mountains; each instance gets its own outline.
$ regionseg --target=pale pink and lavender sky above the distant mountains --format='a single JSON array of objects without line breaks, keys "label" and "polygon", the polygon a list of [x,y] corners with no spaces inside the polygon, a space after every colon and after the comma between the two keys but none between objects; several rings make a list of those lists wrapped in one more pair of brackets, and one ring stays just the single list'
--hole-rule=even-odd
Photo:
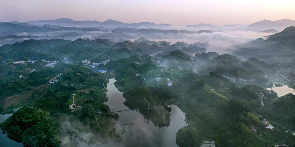
[{"label": "pale pink and lavender sky above the distant mountains", "polygon": [[174,26],[295,20],[294,0],[0,0],[0,21],[113,19]]}]

